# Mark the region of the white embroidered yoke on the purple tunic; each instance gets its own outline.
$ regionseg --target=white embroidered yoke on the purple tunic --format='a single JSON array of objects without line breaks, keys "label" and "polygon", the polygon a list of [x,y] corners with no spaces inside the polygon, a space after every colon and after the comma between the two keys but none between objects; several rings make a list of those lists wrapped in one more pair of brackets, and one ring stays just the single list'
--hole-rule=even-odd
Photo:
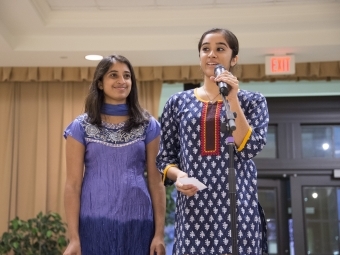
[{"label": "white embroidered yoke on the purple tunic", "polygon": [[[80,115],[78,118],[85,130],[86,141],[99,142],[111,147],[126,146],[136,143],[143,139],[146,126],[141,126],[126,133],[122,128],[124,123],[112,124],[103,122],[103,128],[98,128],[87,121],[87,114]],[[115,130],[112,132],[111,130]]]}]

